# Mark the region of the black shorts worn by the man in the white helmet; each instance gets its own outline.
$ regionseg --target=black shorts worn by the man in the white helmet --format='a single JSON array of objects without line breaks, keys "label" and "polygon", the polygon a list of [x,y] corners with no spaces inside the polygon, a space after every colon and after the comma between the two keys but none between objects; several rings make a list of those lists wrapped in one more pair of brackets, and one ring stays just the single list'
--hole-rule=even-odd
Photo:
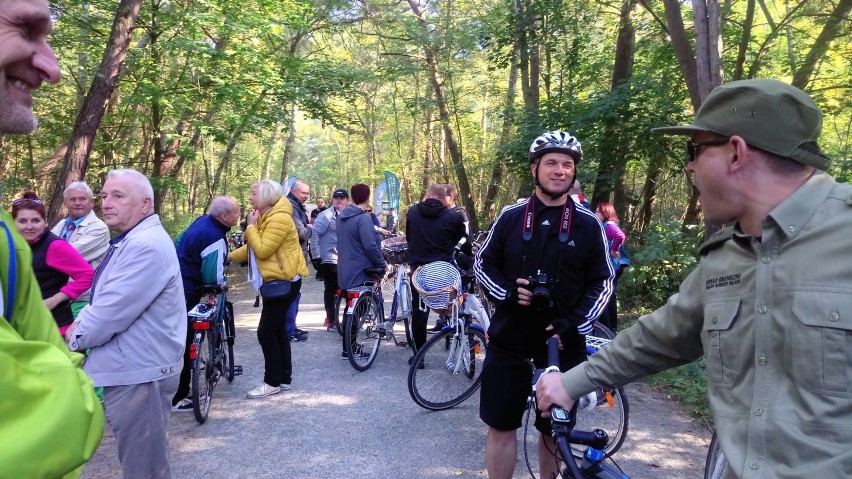
[{"label": "black shorts worn by the man in the white helmet", "polygon": [[[563,371],[586,359],[585,351],[560,354]],[[524,359],[520,355],[489,348],[482,365],[482,389],[479,399],[479,418],[498,431],[513,431],[523,425],[527,399],[532,391],[533,362],[536,367],[547,366],[547,356]],[[550,420],[536,411],[535,428],[550,435]]]}]

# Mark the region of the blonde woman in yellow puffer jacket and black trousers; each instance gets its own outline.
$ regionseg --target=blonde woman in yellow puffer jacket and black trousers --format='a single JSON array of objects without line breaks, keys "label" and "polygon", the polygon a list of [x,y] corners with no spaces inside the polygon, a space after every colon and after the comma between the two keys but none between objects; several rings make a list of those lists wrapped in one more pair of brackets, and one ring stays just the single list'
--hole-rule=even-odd
[{"label": "blonde woman in yellow puffer jacket and black trousers", "polygon": [[249,398],[261,398],[290,389],[293,363],[290,338],[284,319],[287,309],[302,288],[302,277],[308,266],[299,246],[299,236],[293,223],[293,207],[281,196],[281,185],[263,180],[251,187],[252,210],[246,217],[246,245],[228,255],[230,261],[249,261],[249,268],[260,273],[253,283],[257,286],[272,280],[290,281],[290,292],[279,298],[263,298],[257,340],[263,350],[265,371],[263,383],[250,390]]}]

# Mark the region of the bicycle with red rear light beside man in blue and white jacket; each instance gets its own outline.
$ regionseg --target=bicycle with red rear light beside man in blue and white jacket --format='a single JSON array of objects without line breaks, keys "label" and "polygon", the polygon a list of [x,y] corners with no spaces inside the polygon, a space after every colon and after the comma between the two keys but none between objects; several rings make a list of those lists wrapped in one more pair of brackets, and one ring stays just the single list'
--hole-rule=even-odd
[{"label": "bicycle with red rear light beside man in blue and white jacket", "polygon": [[234,365],[234,309],[227,300],[226,286],[196,288],[201,302],[189,311],[195,338],[189,349],[192,367],[192,409],[195,420],[204,424],[213,399],[213,388],[221,376],[228,382],[243,373]]}]

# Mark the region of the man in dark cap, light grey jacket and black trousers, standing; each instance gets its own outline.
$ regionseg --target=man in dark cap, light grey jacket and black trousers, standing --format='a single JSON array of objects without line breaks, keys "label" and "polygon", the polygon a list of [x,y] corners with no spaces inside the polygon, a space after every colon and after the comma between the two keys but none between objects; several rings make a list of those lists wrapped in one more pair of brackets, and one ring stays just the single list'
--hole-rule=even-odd
[{"label": "man in dark cap, light grey jacket and black trousers, standing", "polygon": [[344,189],[335,190],[331,196],[331,208],[326,209],[314,220],[314,234],[311,244],[322,257],[322,277],[325,283],[323,302],[325,303],[325,329],[331,331],[337,327],[340,318],[334,307],[334,297],[340,285],[337,281],[337,216],[349,205],[349,193]]}]

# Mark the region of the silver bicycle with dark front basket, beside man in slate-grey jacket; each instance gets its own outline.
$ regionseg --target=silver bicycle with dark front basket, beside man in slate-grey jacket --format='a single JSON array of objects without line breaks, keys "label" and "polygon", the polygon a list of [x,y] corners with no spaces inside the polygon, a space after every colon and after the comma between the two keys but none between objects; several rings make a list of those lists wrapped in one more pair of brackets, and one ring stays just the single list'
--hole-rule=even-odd
[{"label": "silver bicycle with dark front basket, beside man in slate-grey jacket", "polygon": [[[383,253],[385,253],[383,242]],[[387,259],[387,255],[386,255]],[[366,371],[373,365],[379,352],[381,340],[393,340],[397,346],[409,346],[414,351],[411,333],[411,282],[408,265],[396,265],[394,293],[390,315],[385,316],[385,300],[382,293],[384,268],[368,269],[367,275],[374,278],[364,286],[346,292],[346,312],[343,328],[344,349],[349,364],[357,371]],[[405,326],[405,341],[394,334],[394,325],[402,321]],[[348,331],[348,333],[346,333]]]}]

